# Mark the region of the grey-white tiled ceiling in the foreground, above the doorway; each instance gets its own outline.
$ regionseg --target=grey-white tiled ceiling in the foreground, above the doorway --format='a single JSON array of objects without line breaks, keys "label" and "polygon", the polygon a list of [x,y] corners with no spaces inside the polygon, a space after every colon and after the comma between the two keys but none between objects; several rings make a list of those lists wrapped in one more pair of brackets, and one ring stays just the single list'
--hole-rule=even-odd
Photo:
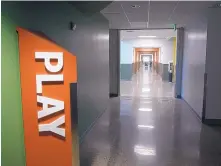
[{"label": "grey-white tiled ceiling in the foreground, above the doorway", "polygon": [[[185,27],[206,15],[214,1],[114,1],[101,13],[113,29]],[[139,5],[140,8],[132,8]]]}]

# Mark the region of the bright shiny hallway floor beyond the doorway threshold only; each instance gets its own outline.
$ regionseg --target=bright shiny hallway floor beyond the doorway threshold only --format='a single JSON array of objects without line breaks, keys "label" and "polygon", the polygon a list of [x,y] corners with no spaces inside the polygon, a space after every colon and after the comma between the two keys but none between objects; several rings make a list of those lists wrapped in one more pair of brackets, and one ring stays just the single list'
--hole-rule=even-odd
[{"label": "bright shiny hallway floor beyond the doorway threshold only", "polygon": [[174,83],[164,82],[151,68],[141,67],[131,81],[120,81],[121,96],[173,97]]}]

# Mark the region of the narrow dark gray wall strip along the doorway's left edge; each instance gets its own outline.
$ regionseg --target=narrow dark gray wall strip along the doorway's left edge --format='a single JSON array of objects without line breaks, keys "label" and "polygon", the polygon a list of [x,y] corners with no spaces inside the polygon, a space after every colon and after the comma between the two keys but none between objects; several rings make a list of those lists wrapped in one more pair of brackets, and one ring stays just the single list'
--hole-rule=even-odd
[{"label": "narrow dark gray wall strip along the doorway's left edge", "polygon": [[110,29],[109,50],[109,90],[110,95],[119,95],[120,82],[120,33],[117,29]]}]

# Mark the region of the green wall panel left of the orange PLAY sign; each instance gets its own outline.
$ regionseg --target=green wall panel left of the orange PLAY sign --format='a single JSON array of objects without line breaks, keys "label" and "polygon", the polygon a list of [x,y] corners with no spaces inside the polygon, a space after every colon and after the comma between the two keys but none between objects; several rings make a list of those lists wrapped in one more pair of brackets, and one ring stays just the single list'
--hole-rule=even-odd
[{"label": "green wall panel left of the orange PLAY sign", "polygon": [[18,38],[16,27],[2,15],[2,166],[24,166]]}]

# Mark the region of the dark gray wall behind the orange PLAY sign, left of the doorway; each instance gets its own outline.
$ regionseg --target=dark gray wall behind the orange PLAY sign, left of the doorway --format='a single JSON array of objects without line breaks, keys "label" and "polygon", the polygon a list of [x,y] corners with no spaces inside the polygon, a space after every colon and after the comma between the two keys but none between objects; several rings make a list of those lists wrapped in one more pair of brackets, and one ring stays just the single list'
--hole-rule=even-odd
[{"label": "dark gray wall behind the orange PLAY sign, left of the doorway", "polygon": [[[2,13],[77,56],[78,129],[83,136],[108,104],[108,21],[100,13],[86,18],[67,2],[2,2]],[[77,24],[75,31],[69,30],[70,21]]]}]

